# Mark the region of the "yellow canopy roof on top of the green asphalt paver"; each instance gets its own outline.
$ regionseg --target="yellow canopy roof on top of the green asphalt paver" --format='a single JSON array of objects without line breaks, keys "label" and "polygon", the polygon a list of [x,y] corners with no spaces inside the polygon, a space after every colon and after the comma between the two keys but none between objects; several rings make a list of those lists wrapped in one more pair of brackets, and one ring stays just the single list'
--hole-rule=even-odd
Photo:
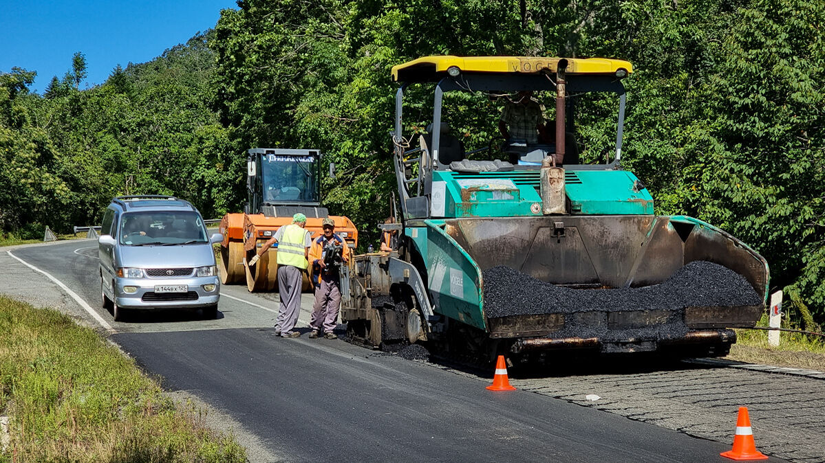
[{"label": "yellow canopy roof on top of the green asphalt paver", "polygon": [[398,82],[431,82],[447,68],[455,66],[461,72],[521,72],[535,74],[556,72],[559,60],[567,59],[568,74],[612,74],[626,69],[633,72],[633,64],[608,58],[540,58],[535,56],[425,56],[393,66],[393,80]]}]

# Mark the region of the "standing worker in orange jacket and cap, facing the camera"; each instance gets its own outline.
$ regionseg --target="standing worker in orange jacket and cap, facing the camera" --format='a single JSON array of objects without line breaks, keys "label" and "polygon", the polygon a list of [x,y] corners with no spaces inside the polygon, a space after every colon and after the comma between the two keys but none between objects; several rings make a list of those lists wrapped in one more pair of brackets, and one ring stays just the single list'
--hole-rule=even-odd
[{"label": "standing worker in orange jacket and cap, facing the camera", "polygon": [[315,305],[309,319],[309,339],[316,339],[323,330],[325,339],[337,339],[335,330],[341,308],[341,265],[350,261],[347,241],[335,233],[335,221],[323,219],[323,235],[309,249],[312,282],[315,285]]}]

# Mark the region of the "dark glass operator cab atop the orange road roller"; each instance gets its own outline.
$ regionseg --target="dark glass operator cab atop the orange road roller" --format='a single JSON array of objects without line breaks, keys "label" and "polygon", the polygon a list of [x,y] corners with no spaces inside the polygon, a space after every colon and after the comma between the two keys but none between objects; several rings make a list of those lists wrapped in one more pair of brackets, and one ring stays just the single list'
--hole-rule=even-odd
[{"label": "dark glass operator cab atop the orange road roller", "polygon": [[267,210],[279,207],[317,208],[321,198],[320,159],[317,150],[250,149],[245,212],[266,214]]}]

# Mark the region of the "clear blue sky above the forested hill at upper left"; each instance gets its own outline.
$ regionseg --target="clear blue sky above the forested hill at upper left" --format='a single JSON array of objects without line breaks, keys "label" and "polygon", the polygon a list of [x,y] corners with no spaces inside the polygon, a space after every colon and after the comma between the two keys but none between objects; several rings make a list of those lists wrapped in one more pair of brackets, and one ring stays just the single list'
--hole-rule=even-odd
[{"label": "clear blue sky above the forested hill at upper left", "polygon": [[37,71],[31,91],[42,93],[52,76],[63,78],[72,55],[86,55],[80,86],[106,81],[117,64],[144,63],[214,27],[234,0],[0,0],[0,72]]}]

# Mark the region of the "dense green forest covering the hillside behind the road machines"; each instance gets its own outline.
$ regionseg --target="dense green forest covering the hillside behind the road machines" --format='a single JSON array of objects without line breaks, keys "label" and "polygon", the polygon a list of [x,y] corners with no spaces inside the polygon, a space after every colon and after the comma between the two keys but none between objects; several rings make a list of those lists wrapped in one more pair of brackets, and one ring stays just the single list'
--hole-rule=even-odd
[{"label": "dense green forest covering the hillside behind the road machines", "polygon": [[[245,150],[266,146],[326,152],[338,173],[325,202],[373,232],[394,189],[392,66],[429,54],[621,58],[635,71],[625,167],[657,213],[757,249],[771,290],[810,329],[808,309],[825,321],[823,18],[825,3],[808,0],[241,0],[213,30],[99,86],[81,88],[79,52],[43,95],[29,91],[35,70],[0,74],[0,228],[99,222],[117,194],[176,194],[219,217],[245,200]],[[493,137],[494,124],[479,127],[490,111],[453,115],[454,131]],[[598,121],[579,132],[585,157],[612,134]]]}]

